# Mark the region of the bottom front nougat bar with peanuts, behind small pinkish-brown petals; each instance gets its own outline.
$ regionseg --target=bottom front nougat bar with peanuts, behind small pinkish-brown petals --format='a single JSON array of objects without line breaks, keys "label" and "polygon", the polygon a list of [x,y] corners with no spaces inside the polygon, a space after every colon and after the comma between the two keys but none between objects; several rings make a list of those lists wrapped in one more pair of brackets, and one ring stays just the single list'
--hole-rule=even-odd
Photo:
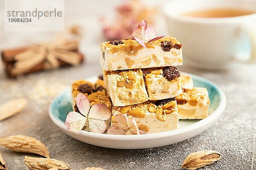
[{"label": "bottom front nougat bar with peanuts, behind small pinkish-brown petals", "polygon": [[137,105],[114,106],[112,108],[111,126],[117,123],[115,120],[117,114],[134,117],[139,130],[143,130],[145,133],[158,133],[179,128],[179,115],[175,100],[163,105],[155,105],[154,102],[147,101]]}]

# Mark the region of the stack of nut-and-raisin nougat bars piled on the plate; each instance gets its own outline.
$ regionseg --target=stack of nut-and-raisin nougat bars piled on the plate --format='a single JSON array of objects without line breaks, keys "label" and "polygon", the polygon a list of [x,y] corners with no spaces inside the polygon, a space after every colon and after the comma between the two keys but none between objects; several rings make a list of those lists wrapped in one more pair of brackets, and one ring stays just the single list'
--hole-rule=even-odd
[{"label": "stack of nut-and-raisin nougat bars piled on the plate", "polygon": [[107,41],[101,50],[111,126],[115,115],[125,114],[134,117],[139,130],[157,133],[179,128],[179,119],[209,115],[207,89],[193,87],[192,78],[175,67],[183,64],[176,38],[165,36],[146,48],[133,39]]}]

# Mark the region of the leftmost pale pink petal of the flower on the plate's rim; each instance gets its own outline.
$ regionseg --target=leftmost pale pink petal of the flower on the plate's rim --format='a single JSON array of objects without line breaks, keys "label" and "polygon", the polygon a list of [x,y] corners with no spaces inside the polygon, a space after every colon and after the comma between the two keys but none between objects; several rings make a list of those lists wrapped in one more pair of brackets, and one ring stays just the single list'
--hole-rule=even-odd
[{"label": "leftmost pale pink petal of the flower on the plate's rim", "polygon": [[67,129],[79,132],[84,127],[86,120],[87,118],[80,113],[71,111],[67,114],[65,125]]}]

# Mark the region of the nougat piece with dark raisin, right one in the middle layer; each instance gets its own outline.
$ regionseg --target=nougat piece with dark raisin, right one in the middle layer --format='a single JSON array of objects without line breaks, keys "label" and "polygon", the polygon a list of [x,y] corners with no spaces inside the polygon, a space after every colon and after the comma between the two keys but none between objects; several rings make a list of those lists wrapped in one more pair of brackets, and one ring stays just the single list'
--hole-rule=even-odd
[{"label": "nougat piece with dark raisin, right one in the middle layer", "polygon": [[174,67],[144,69],[149,100],[161,100],[182,93],[180,71]]}]

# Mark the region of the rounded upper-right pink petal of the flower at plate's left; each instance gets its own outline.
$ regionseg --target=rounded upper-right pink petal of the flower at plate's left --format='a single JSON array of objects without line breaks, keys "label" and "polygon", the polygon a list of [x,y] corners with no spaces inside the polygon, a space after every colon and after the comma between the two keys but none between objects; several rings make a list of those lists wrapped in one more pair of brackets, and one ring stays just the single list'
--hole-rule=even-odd
[{"label": "rounded upper-right pink petal of the flower at plate's left", "polygon": [[89,119],[108,120],[110,117],[111,112],[109,108],[102,103],[92,105],[88,114]]}]

